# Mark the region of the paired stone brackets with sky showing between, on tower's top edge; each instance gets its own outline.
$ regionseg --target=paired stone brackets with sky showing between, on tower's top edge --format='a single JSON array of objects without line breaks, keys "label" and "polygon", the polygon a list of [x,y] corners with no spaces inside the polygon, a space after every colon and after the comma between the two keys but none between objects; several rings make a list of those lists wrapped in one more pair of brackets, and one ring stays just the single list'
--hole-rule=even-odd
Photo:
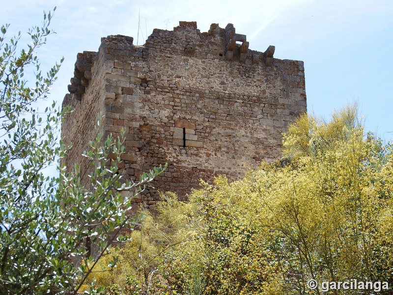
[{"label": "paired stone brackets with sky showing between, on tower's top edge", "polygon": [[[239,46],[236,46],[236,42],[242,42]],[[238,50],[240,62],[245,62],[247,57],[247,51],[249,49],[249,42],[246,41],[246,35],[236,34],[235,28],[232,24],[228,24],[225,27],[225,59],[233,60],[233,53]],[[235,54],[236,55],[236,54]]]}]

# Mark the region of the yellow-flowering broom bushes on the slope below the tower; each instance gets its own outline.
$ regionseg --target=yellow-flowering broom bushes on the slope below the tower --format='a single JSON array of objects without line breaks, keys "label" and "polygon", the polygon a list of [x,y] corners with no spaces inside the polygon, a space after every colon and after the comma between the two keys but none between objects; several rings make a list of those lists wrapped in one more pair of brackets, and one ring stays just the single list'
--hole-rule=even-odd
[{"label": "yellow-flowering broom bushes on the slope below the tower", "polygon": [[102,260],[88,279],[111,294],[321,294],[309,279],[393,286],[391,146],[365,137],[348,107],[329,123],[299,118],[283,147],[284,161],[219,177],[188,203],[164,195],[109,252],[117,268]]}]

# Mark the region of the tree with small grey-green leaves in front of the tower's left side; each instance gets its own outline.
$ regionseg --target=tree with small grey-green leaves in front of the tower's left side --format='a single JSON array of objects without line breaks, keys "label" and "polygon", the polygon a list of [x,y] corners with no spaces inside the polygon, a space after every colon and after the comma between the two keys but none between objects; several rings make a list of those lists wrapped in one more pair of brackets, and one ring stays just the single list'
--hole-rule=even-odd
[{"label": "tree with small grey-green leaves in front of the tower's left side", "polygon": [[[55,102],[44,113],[35,108],[48,97],[60,67],[56,63],[42,74],[37,57],[52,33],[52,14],[44,12],[42,26],[29,29],[31,43],[22,49],[20,32],[7,37],[9,25],[1,27],[1,294],[76,294],[112,237],[122,239],[121,229],[134,225],[135,218],[126,214],[131,198],[163,170],[145,173],[138,182],[123,181],[117,165],[125,149],[122,139],[103,139],[99,131],[85,152],[93,166],[92,190],[81,185],[78,165],[61,167],[66,148],[55,134],[61,116],[71,110],[58,110]],[[109,154],[117,161],[107,161]],[[49,166],[57,167],[58,176],[45,174]],[[133,193],[125,197],[120,191]],[[95,245],[94,257],[86,241]]]}]

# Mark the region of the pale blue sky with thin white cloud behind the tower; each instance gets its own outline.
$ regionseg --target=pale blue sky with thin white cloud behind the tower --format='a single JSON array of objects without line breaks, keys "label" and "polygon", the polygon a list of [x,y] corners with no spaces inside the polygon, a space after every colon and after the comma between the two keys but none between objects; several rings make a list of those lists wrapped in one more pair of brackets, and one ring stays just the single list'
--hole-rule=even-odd
[{"label": "pale blue sky with thin white cloud behind the tower", "polygon": [[154,28],[179,21],[197,21],[201,31],[232,23],[250,49],[275,45],[275,58],[305,62],[309,113],[329,119],[358,101],[366,130],[393,139],[392,0],[0,0],[0,24],[24,33],[55,5],[56,34],[38,52],[44,69],[65,58],[50,101],[61,104],[78,52],[97,51],[109,34],[133,36],[137,44],[139,13],[139,45]]}]

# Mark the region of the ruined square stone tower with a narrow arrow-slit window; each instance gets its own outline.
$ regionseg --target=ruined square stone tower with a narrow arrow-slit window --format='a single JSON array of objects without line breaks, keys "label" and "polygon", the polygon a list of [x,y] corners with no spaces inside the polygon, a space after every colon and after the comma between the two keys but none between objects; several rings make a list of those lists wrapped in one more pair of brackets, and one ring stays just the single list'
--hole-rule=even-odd
[{"label": "ruined square stone tower with a narrow arrow-slit window", "polygon": [[[73,143],[65,164],[80,163],[87,180],[82,152],[99,112],[105,133],[126,131],[125,177],[168,163],[153,185],[179,196],[199,179],[235,179],[275,159],[281,132],[307,104],[303,62],[275,59],[274,50],[249,49],[231,24],[201,33],[196,22],[180,22],[154,29],[143,46],[122,35],[102,38],[98,52],[78,54],[63,101],[75,109],[61,127],[63,141]],[[143,198],[154,208],[155,190]]]}]

